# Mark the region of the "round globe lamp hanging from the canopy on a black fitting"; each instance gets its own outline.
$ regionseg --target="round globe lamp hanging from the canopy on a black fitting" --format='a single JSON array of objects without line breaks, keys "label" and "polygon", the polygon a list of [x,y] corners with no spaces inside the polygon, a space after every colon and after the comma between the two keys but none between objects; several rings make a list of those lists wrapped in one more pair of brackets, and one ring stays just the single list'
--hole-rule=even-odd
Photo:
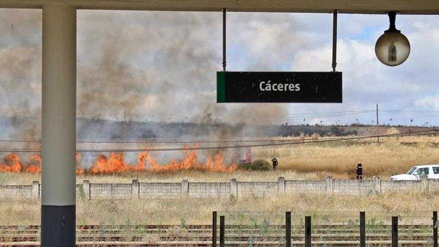
[{"label": "round globe lamp hanging from the canopy on a black fitting", "polygon": [[398,66],[405,62],[410,54],[410,42],[407,37],[395,27],[396,11],[389,14],[390,26],[384,31],[375,44],[375,54],[380,62],[387,66]]}]

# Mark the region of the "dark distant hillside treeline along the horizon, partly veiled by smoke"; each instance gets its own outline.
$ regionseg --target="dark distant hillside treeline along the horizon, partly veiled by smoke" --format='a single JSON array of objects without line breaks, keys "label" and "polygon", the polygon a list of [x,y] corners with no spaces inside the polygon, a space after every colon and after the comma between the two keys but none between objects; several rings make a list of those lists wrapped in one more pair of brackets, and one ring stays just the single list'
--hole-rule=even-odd
[{"label": "dark distant hillside treeline along the horizon, partly veiled by smoke", "polygon": [[[35,121],[25,117],[0,117],[2,138],[7,137],[7,132],[22,129],[29,122]],[[40,124],[33,124],[40,126]],[[38,128],[38,127],[35,127]],[[389,126],[380,126],[380,134],[384,134]],[[401,132],[430,129],[423,127],[396,126]],[[19,132],[19,131],[18,131]],[[35,130],[40,132],[40,130]],[[199,140],[211,137],[215,140],[248,139],[251,137],[271,136],[299,136],[304,133],[311,136],[314,132],[320,136],[348,136],[348,135],[375,135],[376,126],[352,124],[340,125],[255,125],[255,124],[226,124],[226,123],[163,123],[141,121],[112,121],[105,119],[77,119],[78,140],[146,140],[152,138],[163,139],[192,139]],[[34,135],[35,137],[38,135]],[[26,137],[19,139],[25,139]],[[13,139],[17,139],[14,135]]]}]

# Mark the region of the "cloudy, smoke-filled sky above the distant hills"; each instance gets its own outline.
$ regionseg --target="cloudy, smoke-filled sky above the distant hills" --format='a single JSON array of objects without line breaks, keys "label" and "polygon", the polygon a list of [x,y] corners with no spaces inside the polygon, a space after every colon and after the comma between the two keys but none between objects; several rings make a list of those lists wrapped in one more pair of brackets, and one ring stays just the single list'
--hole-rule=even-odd
[{"label": "cloudy, smoke-filled sky above the distant hills", "polygon": [[[411,54],[387,67],[374,46],[388,16],[339,14],[342,104],[218,105],[221,15],[78,10],[78,116],[372,124],[378,103],[381,123],[439,125],[439,16],[398,15]],[[0,20],[0,116],[37,118],[41,10],[1,9]],[[229,71],[330,71],[331,49],[332,14],[227,13]],[[370,112],[351,114],[362,110]]]}]

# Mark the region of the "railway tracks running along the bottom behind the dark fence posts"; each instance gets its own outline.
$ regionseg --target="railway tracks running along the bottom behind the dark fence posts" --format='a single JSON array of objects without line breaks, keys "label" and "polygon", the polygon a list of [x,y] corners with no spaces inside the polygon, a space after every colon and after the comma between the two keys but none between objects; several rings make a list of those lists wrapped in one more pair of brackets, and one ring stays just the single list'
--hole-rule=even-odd
[{"label": "railway tracks running along the bottom behind the dark fence posts", "polygon": [[[367,246],[391,246],[390,228],[390,225],[369,226],[366,231]],[[431,226],[401,225],[398,230],[400,246],[431,246],[433,232]],[[39,247],[39,231],[39,226],[0,226],[0,247]],[[358,226],[314,225],[311,232],[312,246],[359,246]],[[284,246],[284,237],[282,225],[227,225],[225,246]],[[304,246],[304,239],[303,226],[293,225],[292,246]],[[77,247],[210,247],[212,226],[77,226],[76,243]]]}]

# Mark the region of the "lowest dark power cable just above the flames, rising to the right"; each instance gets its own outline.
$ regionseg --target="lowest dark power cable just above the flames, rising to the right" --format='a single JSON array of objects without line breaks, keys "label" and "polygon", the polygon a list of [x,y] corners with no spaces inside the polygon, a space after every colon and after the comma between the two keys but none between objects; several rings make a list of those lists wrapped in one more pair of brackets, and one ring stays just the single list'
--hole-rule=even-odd
[{"label": "lowest dark power cable just above the flames, rising to the right", "polygon": [[[411,135],[427,135],[431,132],[438,132],[439,129],[424,130],[424,131],[413,131],[400,134],[388,134],[388,135],[373,135],[373,136],[362,136],[362,137],[349,137],[349,138],[333,138],[318,141],[301,141],[297,140],[294,142],[285,143],[270,143],[270,144],[250,144],[250,145],[235,145],[235,146],[217,146],[217,147],[183,147],[183,148],[149,148],[149,149],[79,149],[78,153],[128,153],[128,152],[160,152],[160,151],[185,151],[185,150],[218,150],[218,149],[232,149],[232,148],[246,148],[246,147],[267,147],[267,146],[283,146],[283,145],[298,145],[298,144],[309,144],[309,143],[324,143],[324,142],[338,142],[338,141],[349,141],[349,140],[359,140],[365,138],[376,138],[376,137],[392,137],[392,136],[411,136]],[[0,152],[39,152],[39,149],[0,149]]]}]

